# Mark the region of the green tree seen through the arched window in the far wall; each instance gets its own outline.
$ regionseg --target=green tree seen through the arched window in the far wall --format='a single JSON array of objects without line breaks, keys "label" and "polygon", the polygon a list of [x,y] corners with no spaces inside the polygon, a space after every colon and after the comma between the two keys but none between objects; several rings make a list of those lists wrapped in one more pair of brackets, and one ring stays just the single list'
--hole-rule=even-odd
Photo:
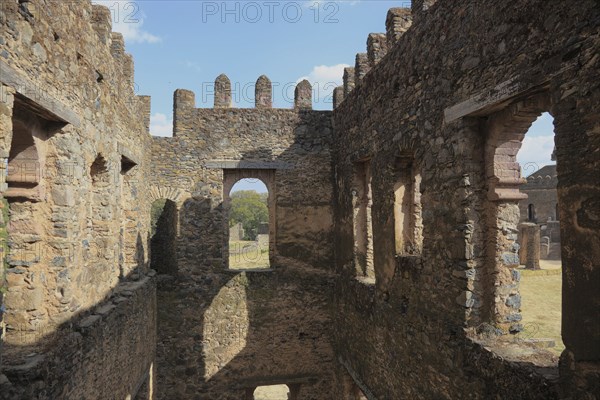
[{"label": "green tree seen through the arched window in the far wall", "polygon": [[241,223],[245,239],[255,240],[260,224],[269,222],[267,194],[254,190],[240,190],[231,194],[229,226]]}]

